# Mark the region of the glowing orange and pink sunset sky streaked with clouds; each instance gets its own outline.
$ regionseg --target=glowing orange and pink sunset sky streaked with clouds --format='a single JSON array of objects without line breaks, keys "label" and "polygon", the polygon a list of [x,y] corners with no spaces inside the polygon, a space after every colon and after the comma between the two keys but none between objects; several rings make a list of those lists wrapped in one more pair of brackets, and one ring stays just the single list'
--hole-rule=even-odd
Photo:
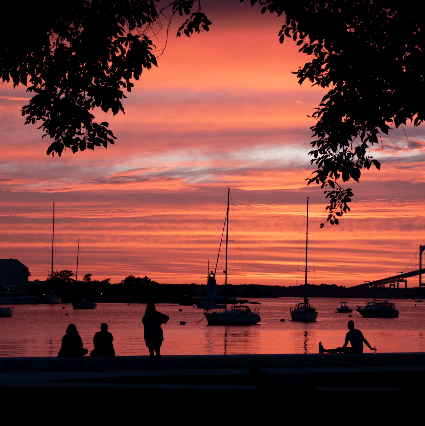
[{"label": "glowing orange and pink sunset sky streaked with clouds", "polygon": [[300,87],[291,74],[307,57],[291,40],[279,43],[283,19],[258,6],[203,2],[203,12],[213,25],[191,38],[175,37],[185,19],[176,17],[159,67],[135,82],[125,115],[94,112],[118,138],[107,150],[47,156],[41,130],[23,125],[25,88],[0,85],[0,257],[45,279],[55,202],[55,268],[75,271],[80,237],[80,277],[202,284],[217,257],[230,185],[231,283],[302,282],[307,195],[309,282],[351,286],[405,268],[425,244],[425,128],[384,135],[373,150],[382,170],[350,181],[351,213],[319,229],[326,201],[305,184],[314,170],[307,115],[325,92]]}]

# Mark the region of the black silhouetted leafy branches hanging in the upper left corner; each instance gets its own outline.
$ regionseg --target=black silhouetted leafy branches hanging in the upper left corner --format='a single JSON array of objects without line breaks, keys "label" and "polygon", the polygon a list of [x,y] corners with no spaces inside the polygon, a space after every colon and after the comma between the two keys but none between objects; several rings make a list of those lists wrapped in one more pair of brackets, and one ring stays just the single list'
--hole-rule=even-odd
[{"label": "black silhouetted leafy branches hanging in the upper left corner", "polygon": [[[188,15],[194,1],[167,7],[171,16]],[[186,35],[211,25],[197,4],[179,30]],[[1,11],[0,73],[3,82],[28,86],[34,95],[22,115],[26,124],[41,121],[44,136],[54,139],[47,154],[114,144],[108,123],[96,123],[91,111],[124,112],[123,90],[131,92],[131,79],[157,66],[148,37],[155,24],[161,28],[157,1],[3,0]]]}]

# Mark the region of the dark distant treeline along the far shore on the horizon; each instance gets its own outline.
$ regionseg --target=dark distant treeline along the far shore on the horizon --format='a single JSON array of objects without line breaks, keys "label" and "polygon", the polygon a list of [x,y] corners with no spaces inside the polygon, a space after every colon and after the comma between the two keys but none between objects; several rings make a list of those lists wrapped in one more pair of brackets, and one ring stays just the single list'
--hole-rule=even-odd
[{"label": "dark distant treeline along the far shore on the horizon", "polygon": [[[153,300],[157,303],[187,303],[190,304],[191,298],[204,296],[206,291],[205,284],[159,284],[148,278],[148,276],[135,277],[129,275],[121,282],[111,284],[110,279],[92,280],[91,274],[86,274],[82,281],[78,283],[74,280],[72,271],[55,271],[53,276],[53,291],[59,294],[64,303],[71,302],[75,298],[77,285],[77,297],[85,297],[93,302],[131,302],[143,303]],[[31,294],[41,296],[51,291],[52,280],[44,282],[35,282],[31,286]],[[388,290],[388,289],[387,289]],[[414,289],[408,289],[414,291]],[[345,299],[349,297],[374,297],[375,289],[362,287],[345,288],[335,284],[327,285],[309,285],[309,297],[336,297]],[[397,296],[407,296],[403,293],[404,289],[397,291]],[[224,285],[217,285],[219,295],[224,295]],[[403,294],[402,294],[403,293]],[[291,285],[284,287],[281,285],[261,285],[261,284],[241,284],[228,285],[228,296],[236,296],[241,299],[255,299],[262,297],[297,297],[304,295],[302,285]],[[413,295],[413,293],[412,293]],[[379,296],[384,297],[384,296]],[[389,297],[389,295],[388,295]]]}]

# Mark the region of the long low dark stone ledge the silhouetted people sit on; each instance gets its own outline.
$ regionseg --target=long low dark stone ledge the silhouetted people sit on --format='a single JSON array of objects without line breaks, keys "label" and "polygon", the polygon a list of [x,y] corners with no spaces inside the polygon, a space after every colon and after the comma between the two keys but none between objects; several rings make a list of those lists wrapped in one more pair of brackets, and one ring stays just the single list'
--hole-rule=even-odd
[{"label": "long low dark stone ledge the silhouetted people sit on", "polygon": [[[383,354],[163,355],[161,357],[162,370],[422,365],[425,365],[424,352]],[[148,366],[148,356],[114,358],[0,358],[0,372],[8,373],[95,370],[141,371],[147,370]]]}]

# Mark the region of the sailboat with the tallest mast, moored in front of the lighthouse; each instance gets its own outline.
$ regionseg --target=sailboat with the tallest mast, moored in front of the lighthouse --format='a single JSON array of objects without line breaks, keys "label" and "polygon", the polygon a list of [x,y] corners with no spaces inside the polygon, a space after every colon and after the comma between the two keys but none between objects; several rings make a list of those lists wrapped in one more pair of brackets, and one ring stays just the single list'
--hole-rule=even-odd
[{"label": "sailboat with the tallest mast, moored in front of the lighthouse", "polygon": [[[227,252],[228,252],[228,231],[229,231],[229,199],[230,199],[230,188],[227,192],[227,213],[226,213],[226,264],[225,271],[223,271],[225,276],[224,281],[224,297],[217,296],[217,282],[215,279],[215,274],[217,272],[217,264],[220,256],[220,248],[217,256],[217,263],[215,265],[215,271],[211,271],[208,274],[208,284],[207,284],[207,296],[208,301],[204,305],[204,314],[205,318],[208,321],[208,325],[249,325],[257,324],[261,321],[260,315],[258,314],[260,310],[261,303],[259,302],[248,302],[248,300],[237,300],[230,299],[227,296]],[[224,227],[223,227],[224,232]],[[209,269],[209,268],[208,268]],[[220,305],[217,304],[220,303]],[[230,304],[231,308],[227,309],[227,305]],[[223,309],[223,311],[214,311],[214,309]]]}]

